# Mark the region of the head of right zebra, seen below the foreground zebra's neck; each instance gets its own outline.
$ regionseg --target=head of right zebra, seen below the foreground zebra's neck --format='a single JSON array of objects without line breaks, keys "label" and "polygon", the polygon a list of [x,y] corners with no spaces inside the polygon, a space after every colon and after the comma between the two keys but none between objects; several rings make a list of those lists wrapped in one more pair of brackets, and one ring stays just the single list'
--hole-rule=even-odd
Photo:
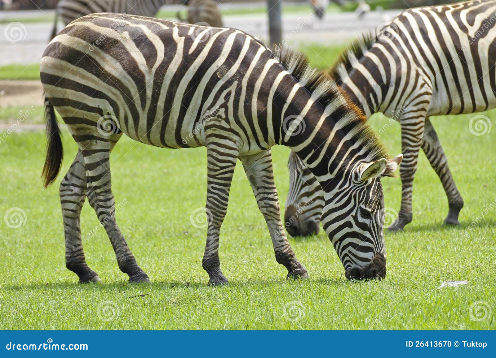
[{"label": "head of right zebra, seen below the foreground zebra's neck", "polygon": [[317,234],[324,196],[318,180],[295,152],[289,154],[289,193],[284,225],[291,236]]}]

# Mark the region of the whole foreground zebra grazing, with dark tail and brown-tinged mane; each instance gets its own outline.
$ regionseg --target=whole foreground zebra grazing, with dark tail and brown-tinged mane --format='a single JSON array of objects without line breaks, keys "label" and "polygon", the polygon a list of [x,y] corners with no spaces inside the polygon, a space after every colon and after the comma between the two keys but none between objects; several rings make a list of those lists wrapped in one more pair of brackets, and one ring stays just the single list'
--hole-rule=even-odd
[{"label": "whole foreground zebra grazing, with dark tail and brown-tinged mane", "polygon": [[115,220],[109,158],[123,133],[157,147],[207,148],[202,265],[210,284],[228,282],[220,270],[219,233],[238,158],[277,262],[286,266],[288,278],[307,277],[280,218],[270,150],[276,144],[294,150],[324,188],[322,223],[346,277],[385,276],[379,178],[393,175],[402,156],[385,158],[363,118],[305,56],[274,54],[237,29],[101,13],[64,28],[43,53],[40,73],[49,136],[46,186],[62,163],[54,109],[79,147],[60,197],[66,267],[80,282],[99,280],[81,244],[79,214],[86,196],[121,271],[130,282],[148,281]]}]

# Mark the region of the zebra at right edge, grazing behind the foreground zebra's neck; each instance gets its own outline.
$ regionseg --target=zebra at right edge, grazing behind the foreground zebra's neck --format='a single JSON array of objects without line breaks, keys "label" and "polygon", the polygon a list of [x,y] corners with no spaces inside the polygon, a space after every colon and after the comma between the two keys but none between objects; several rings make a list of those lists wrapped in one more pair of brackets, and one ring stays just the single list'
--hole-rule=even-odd
[{"label": "zebra at right edge, grazing behind the foreground zebra's neck", "polygon": [[[340,90],[367,118],[382,112],[401,125],[405,155],[400,166],[402,199],[390,230],[402,230],[412,220],[412,186],[420,148],[448,199],[444,222],[459,224],[463,199],[429,117],[496,107],[495,23],[495,0],[409,9],[382,33],[353,44],[329,71]],[[285,221],[291,235],[308,235],[311,232],[305,228],[318,224],[314,207],[320,207],[323,198],[309,182],[312,174],[299,163],[290,157],[291,178],[305,178],[292,180]],[[311,204],[305,205],[308,198]],[[295,208],[302,203],[298,220]]]}]

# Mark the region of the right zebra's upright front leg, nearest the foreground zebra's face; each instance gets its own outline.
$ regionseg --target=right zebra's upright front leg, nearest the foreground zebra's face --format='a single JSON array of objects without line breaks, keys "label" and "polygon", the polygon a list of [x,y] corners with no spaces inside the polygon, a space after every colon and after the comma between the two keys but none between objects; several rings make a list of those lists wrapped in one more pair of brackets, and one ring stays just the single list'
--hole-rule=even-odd
[{"label": "right zebra's upright front leg, nearest the foreground zebra's face", "polygon": [[410,223],[413,218],[412,214],[412,191],[413,179],[417,171],[417,162],[419,151],[424,135],[424,122],[426,109],[414,110],[400,118],[401,124],[401,153],[403,160],[400,164],[401,177],[401,207],[398,212],[398,218],[388,228],[389,231],[403,230],[406,224]]}]

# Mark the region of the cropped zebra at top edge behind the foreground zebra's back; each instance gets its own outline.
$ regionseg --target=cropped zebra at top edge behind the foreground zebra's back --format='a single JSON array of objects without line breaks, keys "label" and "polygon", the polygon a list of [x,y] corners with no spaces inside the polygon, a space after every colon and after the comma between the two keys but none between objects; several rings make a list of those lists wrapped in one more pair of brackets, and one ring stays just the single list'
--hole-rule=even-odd
[{"label": "cropped zebra at top edge behind the foreground zebra's back", "polygon": [[67,25],[71,21],[95,12],[117,12],[131,15],[155,16],[166,4],[181,3],[181,0],[60,0],[55,10],[55,23],[52,30],[53,39],[57,35],[59,16]]}]

